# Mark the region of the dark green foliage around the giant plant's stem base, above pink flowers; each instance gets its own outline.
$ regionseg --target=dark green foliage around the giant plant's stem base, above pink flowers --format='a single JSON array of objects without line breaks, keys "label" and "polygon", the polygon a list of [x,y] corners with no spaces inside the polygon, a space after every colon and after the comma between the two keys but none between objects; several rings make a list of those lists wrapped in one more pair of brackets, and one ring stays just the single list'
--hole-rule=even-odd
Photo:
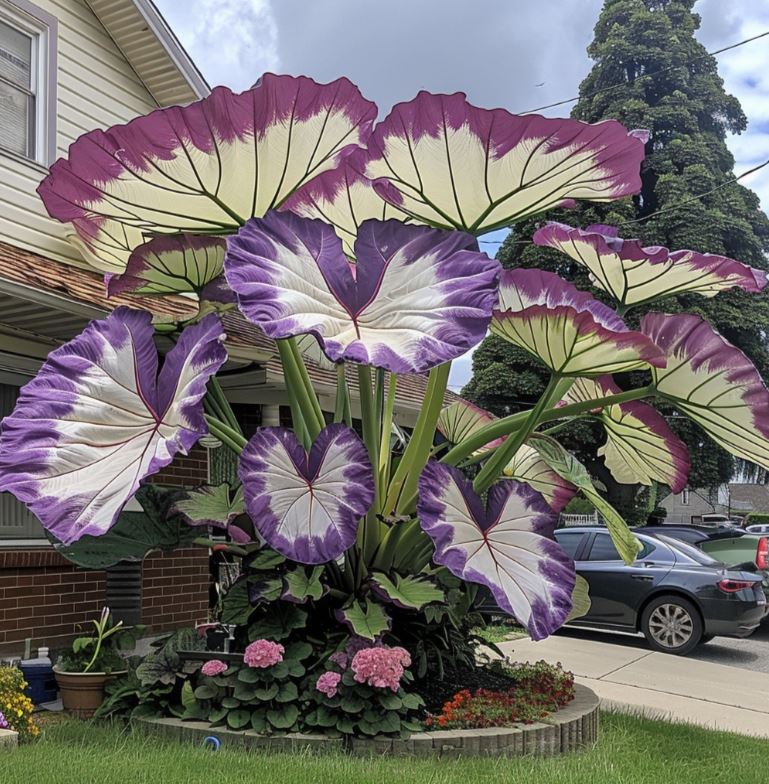
[{"label": "dark green foliage around the giant plant's stem base, above pink flowers", "polygon": [[415,672],[469,665],[483,623],[475,607],[478,587],[447,569],[418,575],[372,572],[357,593],[339,579],[335,563],[305,567],[262,547],[243,561],[243,573],[222,603],[222,623],[238,626],[237,643],[266,638],[322,640],[326,650],[352,633],[402,645]]}]

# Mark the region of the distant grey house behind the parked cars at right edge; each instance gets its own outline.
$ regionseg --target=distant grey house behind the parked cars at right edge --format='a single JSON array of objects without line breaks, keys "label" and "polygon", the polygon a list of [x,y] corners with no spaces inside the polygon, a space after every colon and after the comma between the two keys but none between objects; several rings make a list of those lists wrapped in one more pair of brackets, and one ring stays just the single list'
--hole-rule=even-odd
[{"label": "distant grey house behind the parked cars at right edge", "polygon": [[731,482],[715,490],[686,488],[671,493],[660,504],[671,523],[699,522],[702,515],[720,514],[741,518],[750,512],[769,514],[769,485]]}]

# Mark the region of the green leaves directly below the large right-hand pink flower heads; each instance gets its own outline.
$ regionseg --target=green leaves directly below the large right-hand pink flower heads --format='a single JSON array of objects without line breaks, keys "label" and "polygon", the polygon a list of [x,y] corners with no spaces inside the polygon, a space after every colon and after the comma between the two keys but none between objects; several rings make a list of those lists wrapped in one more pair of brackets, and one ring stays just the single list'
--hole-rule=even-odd
[{"label": "green leaves directly below the large right-hand pink flower heads", "polygon": [[[406,670],[401,683],[412,681],[413,676]],[[424,703],[418,694],[407,693],[403,686],[394,692],[358,683],[350,669],[342,673],[333,697],[319,692],[315,681],[308,679],[305,699],[308,712],[304,727],[310,732],[323,732],[332,737],[408,737],[422,728],[418,712]]]}]

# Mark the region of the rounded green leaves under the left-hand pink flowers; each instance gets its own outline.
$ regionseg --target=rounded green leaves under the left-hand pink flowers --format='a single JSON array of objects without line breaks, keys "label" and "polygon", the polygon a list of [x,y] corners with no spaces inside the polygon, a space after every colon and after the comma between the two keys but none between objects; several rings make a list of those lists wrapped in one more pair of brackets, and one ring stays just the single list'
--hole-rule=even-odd
[{"label": "rounded green leaves under the left-hand pink flowers", "polygon": [[299,726],[299,693],[304,662],[312,646],[286,646],[283,661],[271,667],[232,664],[221,675],[200,676],[194,689],[185,686],[182,718],[209,721],[214,727],[256,732],[291,732]]}]

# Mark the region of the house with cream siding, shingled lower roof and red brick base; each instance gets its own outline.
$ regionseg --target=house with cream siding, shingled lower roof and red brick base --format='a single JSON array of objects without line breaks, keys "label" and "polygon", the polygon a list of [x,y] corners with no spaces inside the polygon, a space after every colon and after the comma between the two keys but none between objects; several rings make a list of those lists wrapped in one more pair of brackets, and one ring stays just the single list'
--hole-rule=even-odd
[{"label": "house with cream siding, shingled lower roof and red brick base", "polygon": [[[46,355],[107,302],[101,276],[85,264],[66,227],[49,219],[35,189],[47,167],[92,128],[205,96],[209,87],[151,0],[0,0],[0,416]],[[166,312],[189,312],[184,297]],[[230,360],[223,387],[248,435],[290,421],[274,345],[235,313],[224,318]],[[321,404],[333,410],[336,374],[311,365]],[[425,381],[399,381],[396,411],[409,427]],[[353,415],[357,404],[353,401]],[[177,459],[154,481],[195,486],[231,476],[215,439]],[[205,620],[209,555],[203,548],[151,554],[143,564],[84,571],[52,548],[39,522],[0,494],[0,655],[71,637],[104,604],[150,629]]]}]

